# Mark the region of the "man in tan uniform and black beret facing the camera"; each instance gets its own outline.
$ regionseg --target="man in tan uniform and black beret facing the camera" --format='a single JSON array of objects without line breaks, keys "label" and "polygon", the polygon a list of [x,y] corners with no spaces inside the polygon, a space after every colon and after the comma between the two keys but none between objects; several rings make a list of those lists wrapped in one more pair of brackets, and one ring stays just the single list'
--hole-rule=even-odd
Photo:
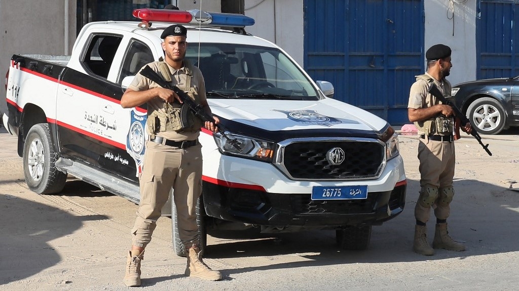
[{"label": "man in tan uniform and black beret facing the camera", "polygon": [[[161,35],[165,61],[148,66],[184,90],[211,114],[202,73],[184,59],[186,35],[187,30],[182,25],[167,27]],[[143,171],[139,177],[141,200],[131,230],[132,246],[128,252],[124,283],[127,286],[141,285],[144,248],[152,239],[156,221],[171,188],[179,220],[179,236],[186,248],[185,274],[205,280],[221,280],[222,274],[211,270],[202,261],[196,222],[196,203],[202,192],[202,153],[198,136],[202,126],[216,132],[218,119],[214,117],[214,122],[203,123],[192,116],[192,124],[182,124],[179,96],[137,74],[122,95],[121,106],[132,108],[144,103],[148,108],[146,127],[149,140],[146,141]]]}]

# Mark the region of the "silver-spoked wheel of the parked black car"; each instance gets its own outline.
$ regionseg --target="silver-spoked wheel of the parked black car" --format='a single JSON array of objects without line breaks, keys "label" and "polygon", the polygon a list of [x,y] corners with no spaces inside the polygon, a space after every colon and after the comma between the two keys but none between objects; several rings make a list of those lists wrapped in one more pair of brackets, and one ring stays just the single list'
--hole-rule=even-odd
[{"label": "silver-spoked wheel of the parked black car", "polygon": [[467,118],[477,132],[487,135],[500,133],[506,121],[501,104],[489,97],[474,100],[467,109]]}]

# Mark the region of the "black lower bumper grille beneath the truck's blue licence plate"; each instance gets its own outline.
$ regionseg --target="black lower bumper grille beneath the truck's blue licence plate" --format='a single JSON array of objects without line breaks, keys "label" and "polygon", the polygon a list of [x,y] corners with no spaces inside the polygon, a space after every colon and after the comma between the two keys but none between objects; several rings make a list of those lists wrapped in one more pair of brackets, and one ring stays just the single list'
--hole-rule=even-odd
[{"label": "black lower bumper grille beneath the truck's blue licence plate", "polygon": [[356,200],[311,200],[309,196],[292,194],[290,204],[294,214],[359,214],[371,213],[375,195]]}]

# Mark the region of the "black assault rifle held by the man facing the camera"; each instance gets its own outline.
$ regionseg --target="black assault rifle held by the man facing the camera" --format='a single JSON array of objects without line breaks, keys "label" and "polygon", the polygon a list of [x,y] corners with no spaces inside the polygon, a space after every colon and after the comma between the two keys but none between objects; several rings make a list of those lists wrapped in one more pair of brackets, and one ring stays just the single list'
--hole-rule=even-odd
[{"label": "black assault rifle held by the man facing the camera", "polygon": [[[157,74],[156,71],[154,71],[152,68],[150,68],[149,66],[145,66],[142,70],[141,70],[141,75],[154,81],[155,83],[157,83],[159,86],[161,86],[162,88],[165,88],[165,89],[169,89],[173,92],[176,93],[176,95],[179,96],[179,98],[182,100],[182,102],[184,103],[183,106],[188,106],[189,109],[191,111],[193,111],[193,113],[195,113],[195,115],[200,118],[202,121],[209,121],[209,122],[214,122],[214,119],[213,117],[207,113],[205,110],[203,110],[202,106],[200,104],[196,104],[195,101],[193,101],[193,99],[191,99],[189,97],[189,95],[186,94],[186,92],[180,90],[180,88],[178,88],[177,86],[175,85],[171,85],[170,83],[166,82],[164,79],[162,79],[162,77]],[[186,110],[184,110],[184,112],[187,112]],[[181,110],[181,115],[183,115],[183,119],[186,118],[186,114],[182,112]],[[227,139],[227,141],[229,142],[229,144],[231,144],[231,146],[235,147],[238,151],[241,152],[241,148],[240,148],[240,142],[235,138],[235,139],[231,139],[229,138],[226,134],[225,134],[225,129],[224,127],[221,125],[221,124],[218,124],[217,125],[217,128],[218,128],[218,132],[225,138]]]}]

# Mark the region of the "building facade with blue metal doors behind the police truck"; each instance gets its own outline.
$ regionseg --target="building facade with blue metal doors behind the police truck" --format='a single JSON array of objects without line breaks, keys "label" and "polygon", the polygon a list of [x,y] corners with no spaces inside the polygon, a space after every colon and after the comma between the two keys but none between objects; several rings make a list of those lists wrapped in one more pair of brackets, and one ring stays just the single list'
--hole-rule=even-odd
[{"label": "building facade with blue metal doors behind the police truck", "polygon": [[436,43],[453,49],[453,84],[519,75],[512,0],[0,0],[0,64],[7,70],[13,53],[70,54],[85,23],[132,20],[135,8],[167,4],[253,17],[247,32],[332,82],[336,99],[393,125],[407,123],[409,87]]}]

